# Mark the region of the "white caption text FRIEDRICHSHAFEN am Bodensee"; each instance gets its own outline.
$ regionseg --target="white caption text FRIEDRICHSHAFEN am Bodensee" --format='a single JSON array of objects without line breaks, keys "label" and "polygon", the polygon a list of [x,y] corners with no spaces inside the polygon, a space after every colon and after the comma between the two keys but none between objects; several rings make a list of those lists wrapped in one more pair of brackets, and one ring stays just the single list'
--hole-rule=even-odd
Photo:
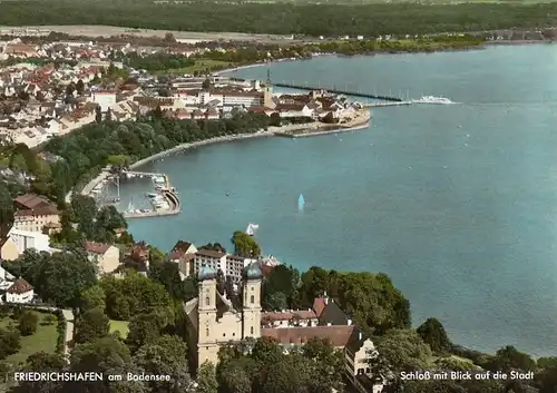
[{"label": "white caption text FRIEDRICHSHAFEN am Bodensee", "polygon": [[13,373],[14,382],[170,382],[170,375],[164,374],[137,374],[137,373],[124,373],[124,374],[105,374],[97,372],[17,372]]}]

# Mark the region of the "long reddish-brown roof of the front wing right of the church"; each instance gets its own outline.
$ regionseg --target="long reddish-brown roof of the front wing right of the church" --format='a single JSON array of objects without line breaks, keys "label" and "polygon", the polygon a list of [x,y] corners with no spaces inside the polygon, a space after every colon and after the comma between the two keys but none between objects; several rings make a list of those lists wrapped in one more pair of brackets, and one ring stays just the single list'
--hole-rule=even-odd
[{"label": "long reddish-brown roof of the front wing right of the church", "polygon": [[354,325],[313,326],[313,327],[277,327],[262,328],[261,335],[275,338],[281,344],[305,344],[310,340],[329,338],[335,347],[344,347],[350,341]]}]

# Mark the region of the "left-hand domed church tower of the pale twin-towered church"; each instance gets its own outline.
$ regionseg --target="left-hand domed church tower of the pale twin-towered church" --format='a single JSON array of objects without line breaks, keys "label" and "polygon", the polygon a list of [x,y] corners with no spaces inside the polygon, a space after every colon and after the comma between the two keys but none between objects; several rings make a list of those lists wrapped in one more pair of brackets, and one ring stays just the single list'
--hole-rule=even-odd
[{"label": "left-hand domed church tower of the pale twin-towered church", "polygon": [[209,266],[199,269],[199,297],[197,324],[197,366],[205,361],[217,364],[218,344],[216,342],[216,272]]}]

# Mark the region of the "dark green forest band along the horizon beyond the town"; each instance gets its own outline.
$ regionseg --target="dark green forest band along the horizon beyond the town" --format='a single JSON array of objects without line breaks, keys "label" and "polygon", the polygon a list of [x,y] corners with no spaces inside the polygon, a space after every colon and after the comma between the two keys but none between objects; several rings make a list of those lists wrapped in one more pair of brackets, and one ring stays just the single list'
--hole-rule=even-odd
[{"label": "dark green forest band along the horizon beyond the town", "polygon": [[[218,10],[218,12],[215,12]],[[466,16],[466,18],[462,18]],[[555,3],[184,2],[56,0],[0,3],[0,24],[106,24],[178,31],[339,37],[548,27]],[[323,22],[326,21],[326,22]]]}]

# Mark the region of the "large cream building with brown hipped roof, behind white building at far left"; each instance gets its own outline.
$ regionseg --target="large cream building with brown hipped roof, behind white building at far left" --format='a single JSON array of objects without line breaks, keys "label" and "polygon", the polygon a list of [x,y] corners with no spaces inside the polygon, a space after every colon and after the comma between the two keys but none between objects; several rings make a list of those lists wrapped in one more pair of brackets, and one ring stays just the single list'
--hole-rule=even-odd
[{"label": "large cream building with brown hipped roof, behind white building at far left", "polygon": [[16,229],[42,233],[45,226],[60,224],[56,206],[35,194],[18,196],[13,203],[17,208],[13,220]]}]

